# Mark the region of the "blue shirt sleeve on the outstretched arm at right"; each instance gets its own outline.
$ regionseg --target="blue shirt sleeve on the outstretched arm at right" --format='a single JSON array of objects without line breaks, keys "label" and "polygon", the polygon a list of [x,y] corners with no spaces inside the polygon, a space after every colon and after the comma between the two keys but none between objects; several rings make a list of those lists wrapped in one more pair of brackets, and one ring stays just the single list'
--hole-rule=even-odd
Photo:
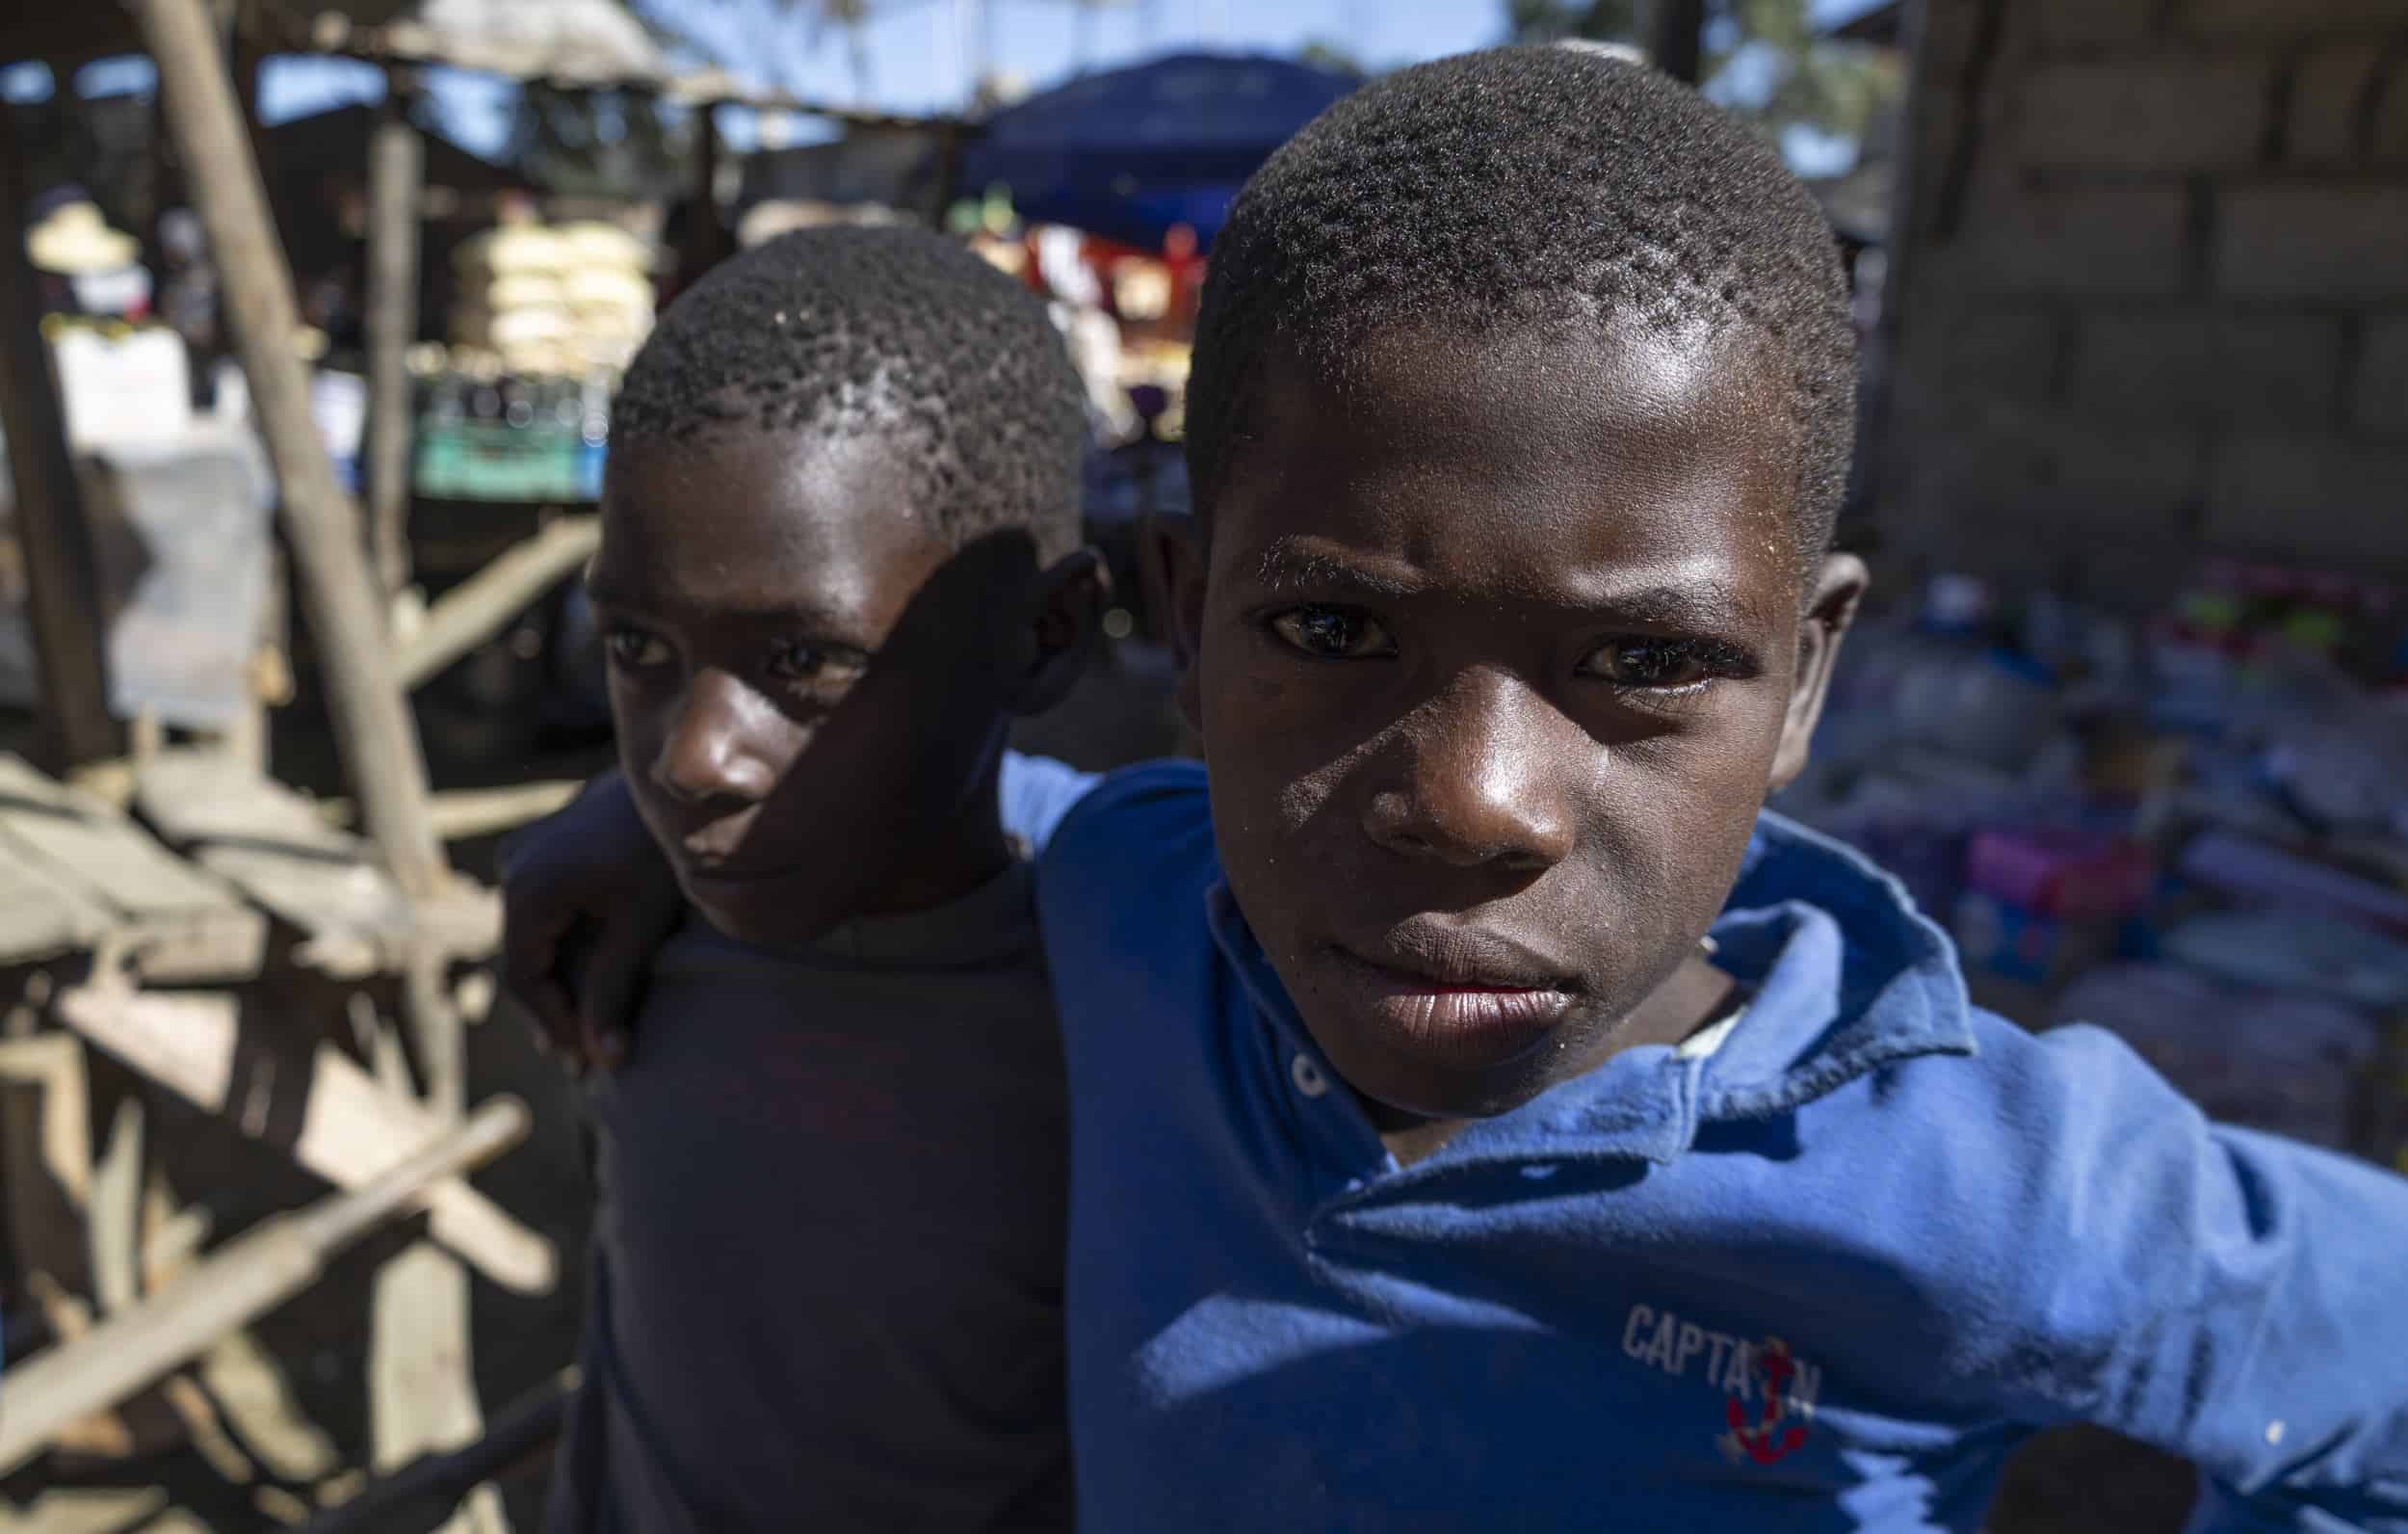
[{"label": "blue shirt sleeve on the outstretched arm at right", "polygon": [[2095,1028],[2056,1076],[2028,1288],[2088,1418],[2206,1479],[2194,1532],[2408,1534],[2408,1180],[2215,1125]]}]

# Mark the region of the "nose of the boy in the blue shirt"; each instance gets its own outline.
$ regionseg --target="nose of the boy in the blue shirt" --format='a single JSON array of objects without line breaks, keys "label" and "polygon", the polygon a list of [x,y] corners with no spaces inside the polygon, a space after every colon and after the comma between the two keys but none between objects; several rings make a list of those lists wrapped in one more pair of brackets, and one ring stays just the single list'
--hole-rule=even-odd
[{"label": "nose of the boy in the blue shirt", "polygon": [[1553,727],[1570,722],[1546,698],[1507,674],[1464,672],[1416,725],[1404,780],[1365,807],[1375,843],[1454,867],[1541,872],[1570,857],[1577,816],[1553,751]]}]

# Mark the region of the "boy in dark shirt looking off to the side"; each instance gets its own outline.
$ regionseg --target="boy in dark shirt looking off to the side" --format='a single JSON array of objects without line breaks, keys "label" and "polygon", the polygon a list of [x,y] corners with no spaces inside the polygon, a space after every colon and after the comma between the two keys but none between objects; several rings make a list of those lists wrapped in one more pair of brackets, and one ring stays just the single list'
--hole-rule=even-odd
[{"label": "boy in dark shirt looking off to the side", "polygon": [[590,1088],[563,1534],[1069,1522],[1062,1060],[999,804],[1050,819],[1004,727],[1096,614],[1081,421],[1043,308],[910,229],[727,262],[626,376],[621,780],[530,857],[633,804],[691,915]]}]

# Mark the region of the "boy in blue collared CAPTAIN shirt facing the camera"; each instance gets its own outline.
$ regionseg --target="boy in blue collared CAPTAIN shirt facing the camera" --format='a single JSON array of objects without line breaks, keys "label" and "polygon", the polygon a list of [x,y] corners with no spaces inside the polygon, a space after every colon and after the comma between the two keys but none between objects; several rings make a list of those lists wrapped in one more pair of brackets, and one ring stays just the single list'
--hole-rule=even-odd
[{"label": "boy in blue collared CAPTAIN shirt facing the camera", "polygon": [[1763,812],[1864,590],[1852,378],[1804,188],[1623,63],[1404,70],[1247,185],[1209,773],[1040,869],[1084,1527],[1970,1532],[2095,1421],[2201,1527],[2408,1529],[2408,1185],[1972,1011]]}]

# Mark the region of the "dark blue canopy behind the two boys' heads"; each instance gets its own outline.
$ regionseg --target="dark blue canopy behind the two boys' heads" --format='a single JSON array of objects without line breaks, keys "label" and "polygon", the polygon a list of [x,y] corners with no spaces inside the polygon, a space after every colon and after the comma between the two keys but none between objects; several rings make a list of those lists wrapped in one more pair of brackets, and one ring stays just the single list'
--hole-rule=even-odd
[{"label": "dark blue canopy behind the two boys' heads", "polygon": [[1351,92],[1286,58],[1173,53],[1009,106],[963,152],[961,185],[1009,185],[1043,224],[1156,248],[1187,224],[1209,248],[1245,178]]}]

